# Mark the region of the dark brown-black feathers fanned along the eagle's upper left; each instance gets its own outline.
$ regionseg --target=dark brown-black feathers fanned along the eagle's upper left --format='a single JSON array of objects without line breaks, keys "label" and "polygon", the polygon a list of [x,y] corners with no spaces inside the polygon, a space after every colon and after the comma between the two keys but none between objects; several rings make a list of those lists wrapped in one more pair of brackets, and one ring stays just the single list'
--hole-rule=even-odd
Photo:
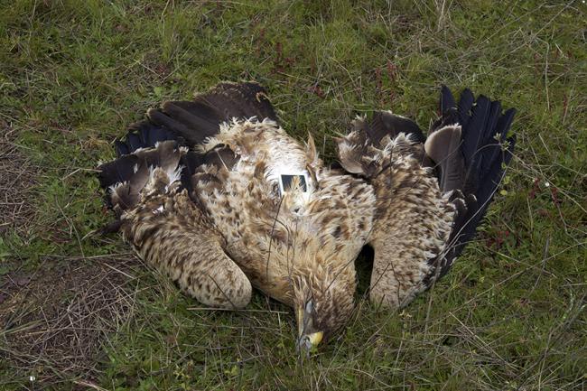
[{"label": "dark brown-black feathers fanned along the eagle's upper left", "polygon": [[[107,196],[108,204],[114,208],[117,203],[121,210],[134,207],[149,170],[154,167],[171,172],[181,166],[182,187],[191,193],[193,174],[202,164],[229,169],[238,162],[238,156],[226,145],[205,154],[193,150],[180,154],[178,147],[201,144],[207,137],[218,134],[220,124],[233,117],[253,116],[258,120],[277,120],[265,88],[254,82],[221,83],[209,92],[196,95],[193,101],[166,102],[162,108],[150,109],[147,119],[131,126],[124,140],[116,141],[118,158],[98,167],[104,189],[121,183],[116,187],[116,194],[110,192]],[[165,143],[171,140],[172,143]]]}]

